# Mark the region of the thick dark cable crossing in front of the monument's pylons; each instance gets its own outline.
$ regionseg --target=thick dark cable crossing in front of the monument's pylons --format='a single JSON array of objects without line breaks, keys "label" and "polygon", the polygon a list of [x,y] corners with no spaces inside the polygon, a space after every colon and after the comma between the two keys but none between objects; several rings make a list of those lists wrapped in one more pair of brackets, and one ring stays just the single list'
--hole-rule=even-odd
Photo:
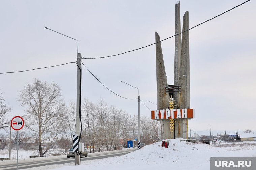
[{"label": "thick dark cable crossing in front of the monument's pylons", "polygon": [[[231,11],[231,10],[233,10],[233,9],[235,9],[235,8],[237,8],[237,7],[239,7],[239,6],[241,6],[241,5],[243,5],[243,4],[245,4],[245,3],[248,2],[248,1],[250,1],[250,0],[247,0],[247,1],[243,2],[242,4],[237,5],[237,6],[233,7],[233,8],[231,8],[231,9],[229,9],[229,10],[227,10],[227,11],[225,11],[225,12],[223,12],[223,13],[221,13],[221,14],[219,14],[219,15],[213,17],[213,18],[211,18],[211,19],[208,19],[208,20],[206,20],[206,21],[204,21],[204,22],[202,22],[202,23],[200,23],[200,24],[198,24],[198,25],[196,25],[196,26],[194,26],[194,27],[188,29],[188,30],[185,30],[185,31],[183,31],[183,32],[181,32],[181,33],[175,34],[175,35],[173,35],[173,36],[171,36],[171,37],[168,37],[168,38],[163,39],[163,40],[161,40],[161,41],[158,41],[158,42],[156,42],[156,43],[165,41],[165,40],[170,39],[170,38],[172,38],[172,37],[175,37],[175,36],[177,36],[177,35],[179,35],[179,34],[182,34],[182,33],[186,32],[186,31],[192,30],[192,29],[194,29],[195,27],[197,27],[197,26],[199,26],[199,25],[202,25],[202,24],[204,24],[204,23],[206,23],[206,22],[208,22],[208,21],[210,21],[210,20],[213,20],[213,19],[215,19],[215,18],[217,18],[217,17],[219,17],[219,16],[221,16],[221,15],[223,15],[223,14],[225,14],[225,13],[227,13],[227,12],[229,12],[229,11]],[[144,47],[140,47],[140,48],[137,48],[137,49],[134,49],[134,50],[126,51],[126,52],[120,53],[120,54],[115,54],[115,55],[110,55],[110,56],[105,56],[105,57],[83,58],[83,59],[99,59],[99,58],[114,57],[114,56],[122,55],[122,54],[125,54],[125,53],[129,53],[129,52],[132,52],[132,51],[140,50],[140,49],[142,49],[142,48],[146,48],[146,47],[152,46],[152,45],[154,45],[154,44],[156,44],[156,43],[152,43],[152,44],[150,44],[150,45],[147,45],[147,46],[144,46]]]}]

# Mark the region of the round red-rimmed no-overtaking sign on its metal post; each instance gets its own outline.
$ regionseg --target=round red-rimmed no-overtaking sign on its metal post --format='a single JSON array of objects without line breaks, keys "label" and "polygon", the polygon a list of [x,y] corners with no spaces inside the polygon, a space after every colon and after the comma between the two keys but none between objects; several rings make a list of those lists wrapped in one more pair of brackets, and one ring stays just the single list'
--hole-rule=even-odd
[{"label": "round red-rimmed no-overtaking sign on its metal post", "polygon": [[19,130],[21,130],[24,126],[24,120],[20,116],[15,116],[11,119],[11,128],[13,130],[17,131],[16,141],[17,141],[17,159],[16,159],[16,165],[18,170],[18,150],[19,150]]}]

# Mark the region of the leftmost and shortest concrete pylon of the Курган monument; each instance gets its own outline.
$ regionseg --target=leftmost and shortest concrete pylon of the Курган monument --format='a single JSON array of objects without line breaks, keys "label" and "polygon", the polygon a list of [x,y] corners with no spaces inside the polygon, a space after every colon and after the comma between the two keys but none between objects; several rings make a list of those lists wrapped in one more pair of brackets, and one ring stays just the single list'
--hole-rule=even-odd
[{"label": "leftmost and shortest concrete pylon of the \u041a\u0443\u0440\u0433\u0430\u043d monument", "polygon": [[[156,32],[156,42],[160,41],[160,36]],[[156,43],[156,84],[157,84],[157,110],[167,109],[170,96],[165,92],[168,85],[164,67],[164,59],[161,43]],[[163,139],[171,139],[169,119],[160,120],[163,128]]]}]

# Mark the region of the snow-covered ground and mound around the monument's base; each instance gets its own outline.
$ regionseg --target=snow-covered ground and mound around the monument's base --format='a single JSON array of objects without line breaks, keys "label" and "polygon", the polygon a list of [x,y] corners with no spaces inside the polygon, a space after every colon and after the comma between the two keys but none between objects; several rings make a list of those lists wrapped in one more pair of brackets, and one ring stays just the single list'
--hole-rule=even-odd
[{"label": "snow-covered ground and mound around the monument's base", "polygon": [[[256,143],[187,143],[180,140],[170,140],[169,147],[161,147],[161,142],[146,145],[135,152],[105,159],[81,161],[76,170],[155,170],[166,168],[179,169],[210,169],[211,157],[256,157]],[[70,170],[74,163],[49,165],[40,170]],[[27,170],[38,170],[30,168]]]}]

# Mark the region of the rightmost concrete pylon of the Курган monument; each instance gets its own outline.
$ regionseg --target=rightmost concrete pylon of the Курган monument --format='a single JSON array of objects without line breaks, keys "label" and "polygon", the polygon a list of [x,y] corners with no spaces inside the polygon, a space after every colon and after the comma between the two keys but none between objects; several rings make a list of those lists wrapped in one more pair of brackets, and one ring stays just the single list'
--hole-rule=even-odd
[{"label": "rightmost concrete pylon of the \u041a\u0443\u0440\u0433\u0430\u043d monument", "polygon": [[[182,31],[189,29],[188,11],[183,16]],[[189,71],[189,31],[182,33],[181,58],[179,61],[179,85],[181,92],[178,95],[178,107],[180,109],[190,108],[190,71]],[[182,137],[187,139],[187,119],[177,119],[175,123],[175,138]]]}]

